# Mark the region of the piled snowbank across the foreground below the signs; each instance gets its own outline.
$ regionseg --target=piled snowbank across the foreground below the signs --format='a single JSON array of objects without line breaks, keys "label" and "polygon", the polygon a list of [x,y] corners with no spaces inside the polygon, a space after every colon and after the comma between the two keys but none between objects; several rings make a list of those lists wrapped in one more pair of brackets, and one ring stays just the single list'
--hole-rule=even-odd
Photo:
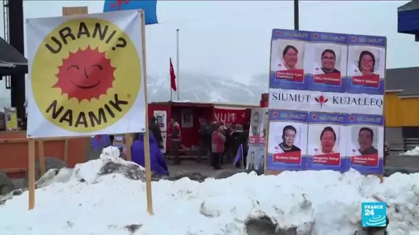
[{"label": "piled snowbank across the foreground below the signs", "polygon": [[37,182],[34,210],[28,211],[28,192],[0,205],[0,234],[235,235],[247,234],[246,220],[265,215],[298,234],[352,235],[360,225],[360,203],[377,200],[389,205],[389,234],[419,234],[419,174],[396,173],[383,183],[353,170],[239,173],[203,183],[161,180],[152,183],[150,216],[145,183],[126,177],[135,170],[103,172],[112,162],[138,168],[115,155],[108,149],[74,170],[47,172]]}]

